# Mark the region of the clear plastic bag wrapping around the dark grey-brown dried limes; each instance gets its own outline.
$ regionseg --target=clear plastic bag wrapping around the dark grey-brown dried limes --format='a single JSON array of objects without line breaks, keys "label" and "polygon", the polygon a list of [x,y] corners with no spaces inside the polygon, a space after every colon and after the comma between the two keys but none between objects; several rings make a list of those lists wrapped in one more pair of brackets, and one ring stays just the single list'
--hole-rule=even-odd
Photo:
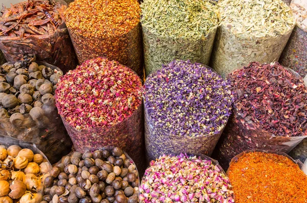
[{"label": "clear plastic bag wrapping around the dark grey-brown dried limes", "polygon": [[[38,65],[45,65],[57,71],[58,67],[45,62],[35,61]],[[14,64],[15,62],[9,62]],[[42,107],[43,108],[43,107]],[[29,113],[23,114],[23,123],[15,126],[10,118],[0,118],[0,136],[8,137],[20,144],[35,144],[49,158],[51,163],[57,162],[71,150],[72,142],[58,115],[57,108],[49,106],[43,117],[36,120]]]}]

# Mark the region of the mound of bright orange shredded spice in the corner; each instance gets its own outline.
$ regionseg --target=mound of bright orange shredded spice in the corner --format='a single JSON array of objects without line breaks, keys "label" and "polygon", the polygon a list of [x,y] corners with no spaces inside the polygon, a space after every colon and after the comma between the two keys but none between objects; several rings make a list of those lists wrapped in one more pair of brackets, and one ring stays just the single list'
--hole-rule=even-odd
[{"label": "mound of bright orange shredded spice in the corner", "polygon": [[246,153],[230,164],[228,176],[236,203],[307,202],[307,175],[282,155]]}]

